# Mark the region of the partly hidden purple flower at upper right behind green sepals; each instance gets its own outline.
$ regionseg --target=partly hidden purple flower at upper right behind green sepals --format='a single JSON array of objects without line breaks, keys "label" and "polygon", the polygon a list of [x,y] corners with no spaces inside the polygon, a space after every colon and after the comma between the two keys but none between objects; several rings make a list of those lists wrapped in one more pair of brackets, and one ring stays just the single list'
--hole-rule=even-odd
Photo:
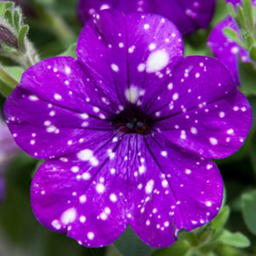
[{"label": "partly hidden purple flower at upper right behind green sepals", "polygon": [[[240,0],[226,0],[226,2],[234,6],[241,3]],[[252,5],[256,5],[256,1],[252,1]],[[250,61],[249,54],[239,44],[224,35],[224,28],[232,28],[240,34],[233,17],[229,16],[215,25],[215,28],[209,35],[208,46],[213,51],[215,58],[222,61],[230,69],[236,85],[240,85],[238,73],[239,57],[241,56],[242,61]]]}]

